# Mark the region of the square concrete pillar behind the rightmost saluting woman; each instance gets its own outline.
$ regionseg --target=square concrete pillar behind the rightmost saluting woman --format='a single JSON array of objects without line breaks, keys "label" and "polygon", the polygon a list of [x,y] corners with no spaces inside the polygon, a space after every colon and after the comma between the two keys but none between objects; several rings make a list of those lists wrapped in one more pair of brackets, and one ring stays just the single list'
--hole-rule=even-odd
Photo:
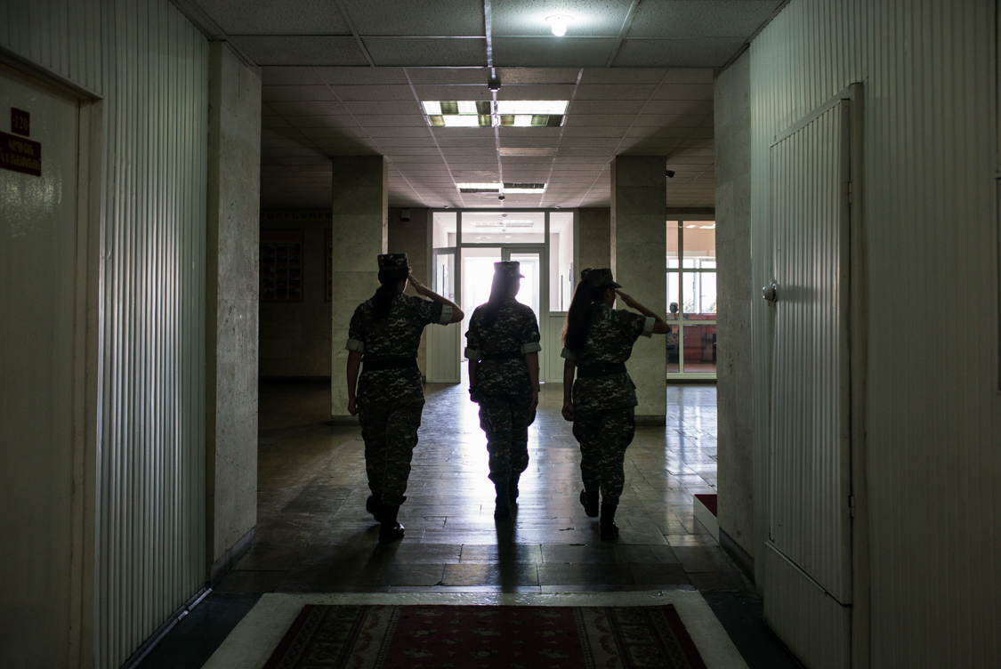
[{"label": "square concrete pillar behind the rightmost saluting woman", "polygon": [[[612,161],[612,271],[626,292],[658,313],[667,302],[665,164],[663,155],[620,155]],[[616,306],[625,304],[619,300]],[[664,425],[664,336],[641,337],[627,366],[640,400],[637,425]]]}]

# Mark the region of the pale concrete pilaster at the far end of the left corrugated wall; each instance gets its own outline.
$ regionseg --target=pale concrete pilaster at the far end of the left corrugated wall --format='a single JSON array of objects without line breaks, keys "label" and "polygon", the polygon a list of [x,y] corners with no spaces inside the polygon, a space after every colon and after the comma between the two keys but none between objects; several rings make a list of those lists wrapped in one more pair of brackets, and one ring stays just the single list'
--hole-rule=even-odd
[{"label": "pale concrete pilaster at the far end of the left corrugated wall", "polygon": [[260,77],[209,46],[205,244],[205,506],[214,586],[257,524]]}]

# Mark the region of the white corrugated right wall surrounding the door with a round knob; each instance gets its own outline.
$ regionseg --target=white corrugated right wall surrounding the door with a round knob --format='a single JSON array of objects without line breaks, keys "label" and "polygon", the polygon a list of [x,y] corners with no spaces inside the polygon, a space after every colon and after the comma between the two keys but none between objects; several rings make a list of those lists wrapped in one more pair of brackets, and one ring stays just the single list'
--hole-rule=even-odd
[{"label": "white corrugated right wall surrounding the door with a round knob", "polygon": [[[771,278],[769,145],[849,84],[866,88],[868,382],[853,420],[866,427],[873,667],[1001,666],[995,13],[983,0],[793,0],[751,47],[756,286]],[[771,317],[754,306],[756,370],[771,369]],[[769,381],[756,384],[766,462]]]}]

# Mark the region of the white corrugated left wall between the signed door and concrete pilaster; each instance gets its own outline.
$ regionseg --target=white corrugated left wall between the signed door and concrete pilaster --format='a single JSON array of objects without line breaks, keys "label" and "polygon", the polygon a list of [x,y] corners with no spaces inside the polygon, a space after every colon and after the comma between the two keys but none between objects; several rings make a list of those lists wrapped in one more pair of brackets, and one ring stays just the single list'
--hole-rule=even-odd
[{"label": "white corrugated left wall between the signed door and concrete pilaster", "polygon": [[0,18],[5,48],[103,99],[94,645],[118,667],[206,580],[208,44],[167,0]]}]

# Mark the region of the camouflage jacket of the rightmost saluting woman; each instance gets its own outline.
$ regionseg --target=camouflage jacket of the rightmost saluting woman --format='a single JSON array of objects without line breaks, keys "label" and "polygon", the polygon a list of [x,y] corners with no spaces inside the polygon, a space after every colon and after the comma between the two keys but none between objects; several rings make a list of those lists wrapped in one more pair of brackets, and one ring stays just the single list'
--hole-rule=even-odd
[{"label": "camouflage jacket of the rightmost saluting woman", "polygon": [[[576,354],[564,349],[560,354],[578,368],[590,365],[625,363],[633,354],[633,344],[641,334],[654,333],[654,318],[627,309],[615,309],[604,302],[592,305],[588,339]],[[607,377],[578,378],[572,392],[574,410],[608,411],[636,407],[636,384],[628,372]]]}]

